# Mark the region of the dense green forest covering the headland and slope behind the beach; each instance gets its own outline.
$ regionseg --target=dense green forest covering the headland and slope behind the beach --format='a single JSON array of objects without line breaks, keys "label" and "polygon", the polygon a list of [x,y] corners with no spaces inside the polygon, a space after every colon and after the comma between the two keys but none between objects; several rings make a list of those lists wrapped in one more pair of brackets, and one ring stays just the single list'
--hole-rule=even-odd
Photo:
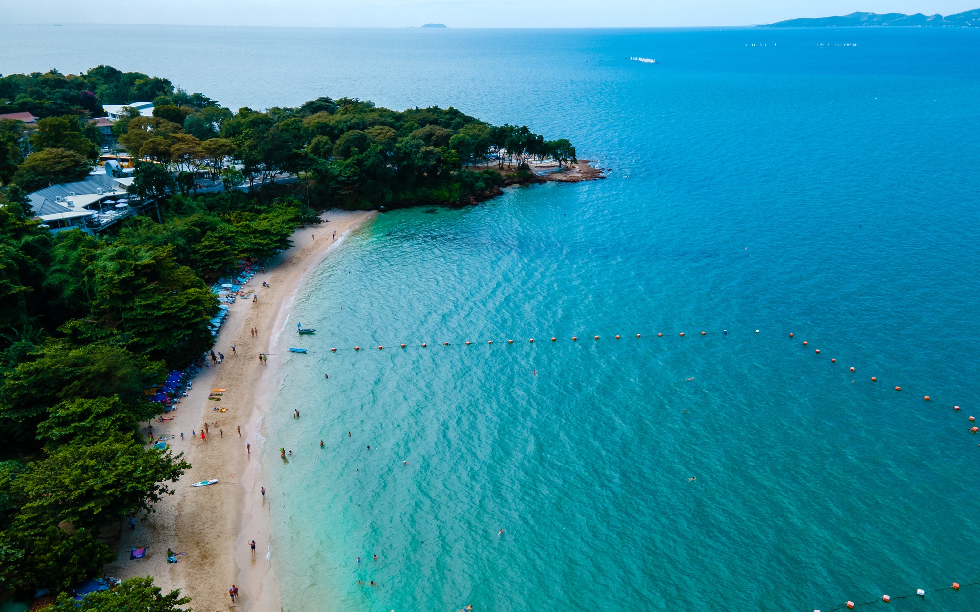
[{"label": "dense green forest covering the headland and slope behind the beach", "polygon": [[[138,158],[130,190],[159,216],[97,235],[40,227],[26,194],[85,178],[106,144],[89,120],[136,101],[152,117],[129,113],[113,138]],[[147,446],[139,424],[158,412],[148,389],[210,349],[215,280],[288,249],[320,210],[471,204],[528,158],[575,159],[566,139],[454,108],[322,97],[232,112],[108,66],[0,77],[0,114],[24,111],[36,126],[0,121],[0,592],[65,593],[100,575],[114,557],[100,535],[172,493],[189,465]],[[196,193],[201,176],[221,191]],[[186,603],[150,579],[120,593],[81,609]]]}]

